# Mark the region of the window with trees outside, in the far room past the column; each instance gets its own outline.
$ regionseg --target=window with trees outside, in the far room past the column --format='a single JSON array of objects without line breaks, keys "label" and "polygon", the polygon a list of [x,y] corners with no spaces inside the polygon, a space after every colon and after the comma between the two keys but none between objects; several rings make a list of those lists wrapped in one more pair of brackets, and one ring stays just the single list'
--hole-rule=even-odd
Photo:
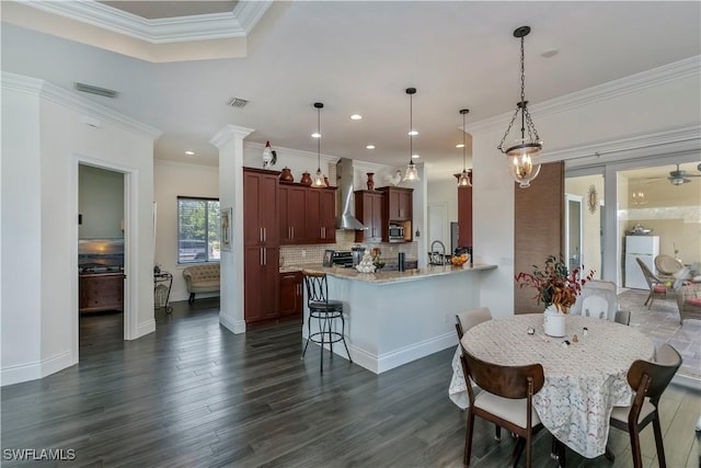
[{"label": "window with trees outside, in the far room past the column", "polygon": [[177,263],[219,260],[219,201],[177,197]]}]

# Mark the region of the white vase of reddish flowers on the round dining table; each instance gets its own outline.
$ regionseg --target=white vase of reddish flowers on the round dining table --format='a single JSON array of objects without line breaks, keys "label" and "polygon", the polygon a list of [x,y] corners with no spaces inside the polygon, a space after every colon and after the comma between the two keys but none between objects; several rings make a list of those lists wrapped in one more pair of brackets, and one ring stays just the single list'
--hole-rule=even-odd
[{"label": "white vase of reddish flowers on the round dining table", "polygon": [[538,304],[543,304],[545,333],[552,336],[564,336],[564,316],[577,300],[584,285],[594,277],[594,270],[581,276],[581,269],[567,269],[562,258],[549,255],[545,266],[533,265],[533,273],[520,272],[514,279],[519,287],[532,287]]}]

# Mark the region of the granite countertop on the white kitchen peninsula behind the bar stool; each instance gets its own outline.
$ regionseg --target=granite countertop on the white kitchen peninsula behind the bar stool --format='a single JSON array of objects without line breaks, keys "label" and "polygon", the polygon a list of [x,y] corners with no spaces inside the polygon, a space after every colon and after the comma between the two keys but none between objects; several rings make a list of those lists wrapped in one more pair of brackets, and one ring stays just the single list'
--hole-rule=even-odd
[{"label": "granite countertop on the white kitchen peninsula behind the bar stool", "polygon": [[406,281],[416,281],[430,276],[450,275],[458,273],[469,273],[473,271],[494,270],[496,265],[474,264],[472,266],[452,266],[452,265],[434,265],[426,266],[425,269],[406,270],[404,272],[386,272],[379,271],[376,273],[359,273],[354,269],[344,269],[340,266],[320,266],[319,264],[298,264],[288,265],[280,269],[280,272],[298,272],[301,270],[308,270],[315,273],[326,273],[329,276],[358,281],[363,283],[372,284],[389,284],[401,283]]}]

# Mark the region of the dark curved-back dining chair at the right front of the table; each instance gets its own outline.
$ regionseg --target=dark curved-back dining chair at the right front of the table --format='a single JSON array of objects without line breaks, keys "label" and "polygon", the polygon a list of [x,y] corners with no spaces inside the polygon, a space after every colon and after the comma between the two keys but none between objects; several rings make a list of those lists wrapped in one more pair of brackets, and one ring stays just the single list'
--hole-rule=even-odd
[{"label": "dark curved-back dining chair at the right front of the table", "polygon": [[[611,411],[611,426],[630,434],[634,468],[643,466],[640,432],[651,422],[655,433],[659,467],[667,466],[657,406],[662,393],[681,366],[681,356],[677,350],[666,343],[659,346],[656,354],[657,358],[654,363],[639,359],[631,365],[628,370],[628,384],[635,392],[633,403],[630,407],[614,407]],[[614,459],[608,447],[606,458],[610,461]]]}]

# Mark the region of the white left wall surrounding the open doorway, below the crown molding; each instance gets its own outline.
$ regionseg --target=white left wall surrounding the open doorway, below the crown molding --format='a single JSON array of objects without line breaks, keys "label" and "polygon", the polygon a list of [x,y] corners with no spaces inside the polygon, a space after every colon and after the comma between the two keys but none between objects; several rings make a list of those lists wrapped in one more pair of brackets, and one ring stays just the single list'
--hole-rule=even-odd
[{"label": "white left wall surrounding the open doorway, below the crown molding", "polygon": [[[12,116],[2,119],[1,373],[8,385],[78,362],[80,162],[128,174],[125,336],[154,330],[150,259],[158,133],[26,77],[2,73],[2,98],[3,116]],[[83,122],[87,116],[92,125]]]}]

